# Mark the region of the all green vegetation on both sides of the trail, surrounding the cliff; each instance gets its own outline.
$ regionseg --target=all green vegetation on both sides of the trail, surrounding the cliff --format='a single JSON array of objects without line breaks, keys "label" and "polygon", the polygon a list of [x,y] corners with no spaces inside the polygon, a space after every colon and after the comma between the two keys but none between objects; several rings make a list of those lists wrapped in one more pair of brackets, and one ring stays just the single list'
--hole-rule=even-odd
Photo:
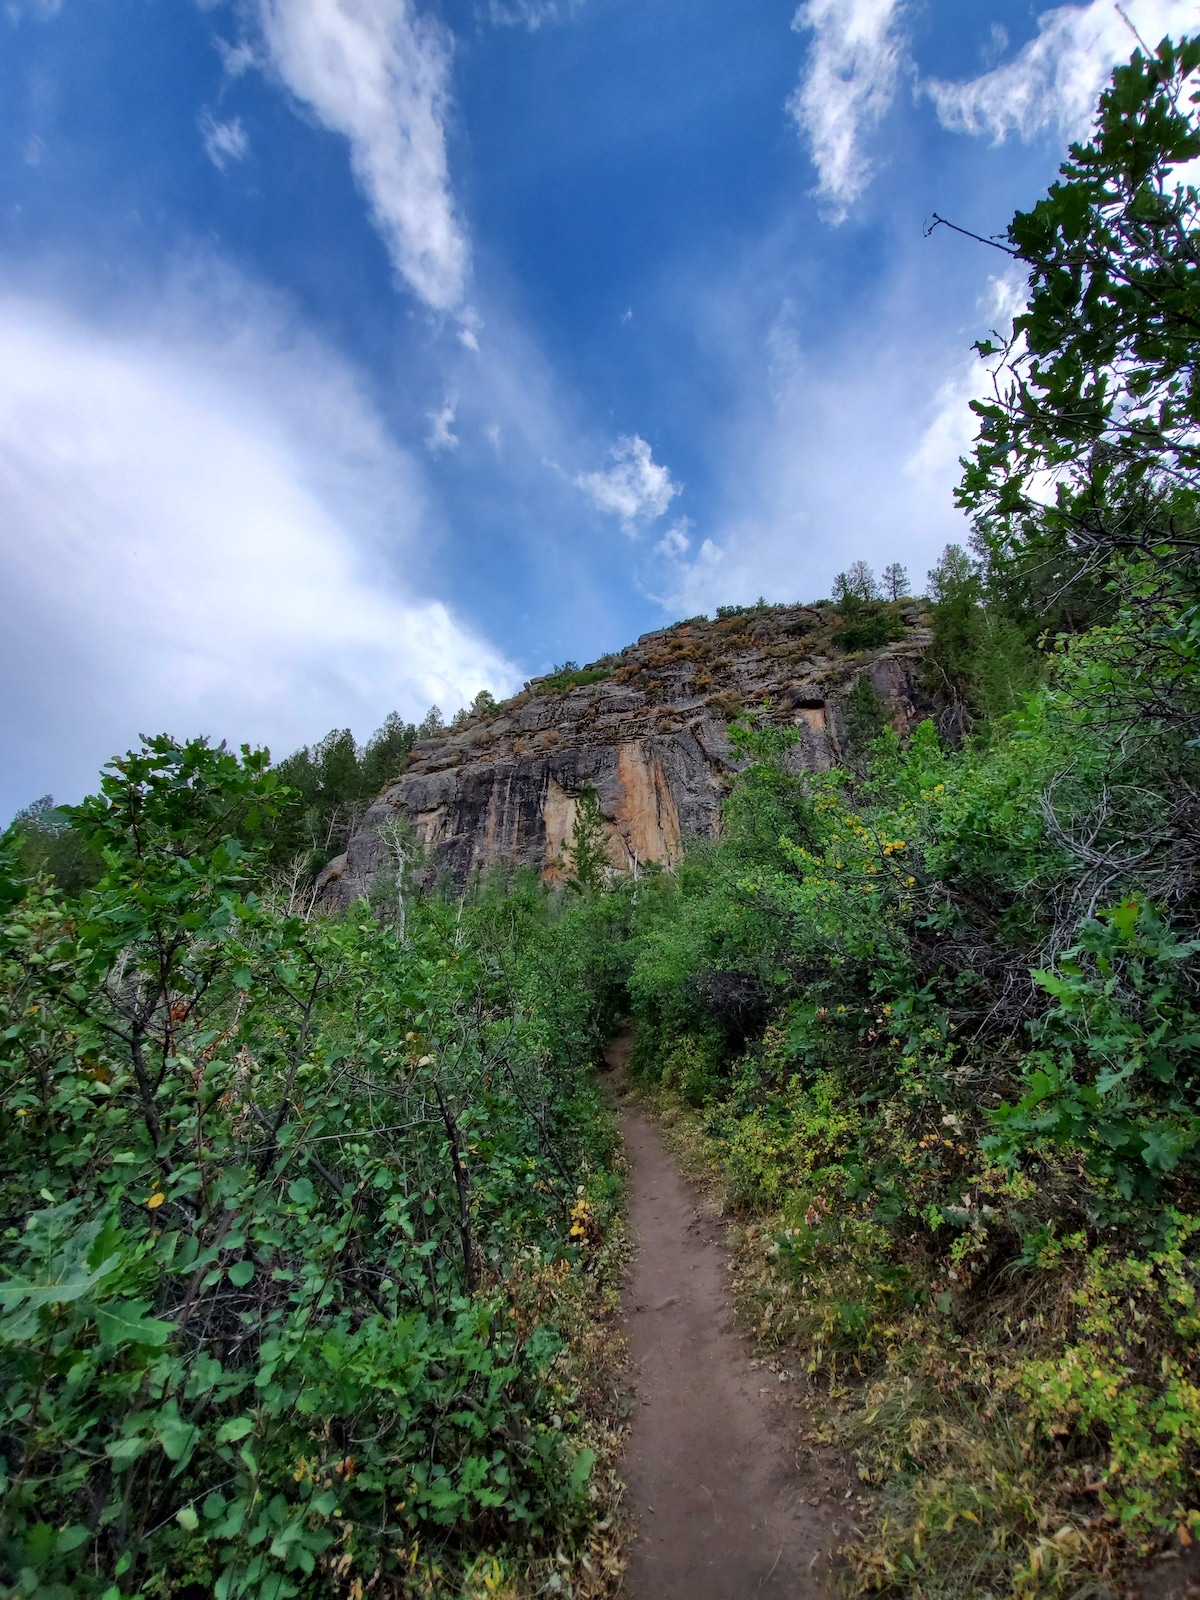
[{"label": "all green vegetation on both sides of the trail, surrounding the cliff", "polygon": [[[10,832],[5,1600],[611,1594],[621,1013],[877,1491],[850,1592],[1117,1595],[1200,1536],[1198,74],[1138,53],[1010,227],[907,739],[864,691],[797,774],[755,709],[677,870],[584,803],[563,888],[410,850],[341,918],[354,741],[154,739]],[[875,648],[885,579],[797,614]]]}]

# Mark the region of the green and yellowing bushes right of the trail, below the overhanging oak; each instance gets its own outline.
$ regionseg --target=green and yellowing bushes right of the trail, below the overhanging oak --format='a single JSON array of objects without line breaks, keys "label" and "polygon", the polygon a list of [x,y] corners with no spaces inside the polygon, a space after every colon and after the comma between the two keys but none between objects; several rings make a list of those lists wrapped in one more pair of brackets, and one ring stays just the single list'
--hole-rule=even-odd
[{"label": "green and yellowing bushes right of the trail, below the overhanging oak", "polygon": [[752,1222],[758,1331],[869,1379],[861,1589],[1072,1592],[1200,1523],[1200,946],[1094,829],[1086,912],[1114,750],[1074,682],[858,774],[739,725],[720,843],[637,907],[634,1067]]}]

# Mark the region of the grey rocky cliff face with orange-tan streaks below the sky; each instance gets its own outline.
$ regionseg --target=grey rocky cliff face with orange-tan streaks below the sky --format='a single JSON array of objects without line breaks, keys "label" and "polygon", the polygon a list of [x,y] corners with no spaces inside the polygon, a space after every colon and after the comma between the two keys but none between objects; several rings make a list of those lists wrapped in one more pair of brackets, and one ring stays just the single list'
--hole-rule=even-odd
[{"label": "grey rocky cliff face with orange-tan streaks below the sky", "polygon": [[[886,624],[886,629],[883,627]],[[690,835],[712,837],[734,771],[728,723],[739,710],[794,725],[789,760],[824,770],[846,739],[846,698],[864,674],[898,730],[922,714],[917,666],[928,630],[888,606],[874,650],[830,606],[763,606],[693,619],[578,672],[534,678],[493,715],[413,750],[408,770],[371,805],[320,878],[326,904],[347,906],[389,866],[389,838],[411,830],[429,862],[464,882],[507,862],[547,878],[570,859],[579,795],[595,790],[619,870],[674,864]]]}]

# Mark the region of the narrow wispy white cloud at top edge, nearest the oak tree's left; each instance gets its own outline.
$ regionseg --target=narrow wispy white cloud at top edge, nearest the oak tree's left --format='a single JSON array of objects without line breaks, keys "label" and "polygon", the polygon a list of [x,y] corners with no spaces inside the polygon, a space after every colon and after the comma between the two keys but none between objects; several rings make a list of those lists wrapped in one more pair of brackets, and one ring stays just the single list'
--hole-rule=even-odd
[{"label": "narrow wispy white cloud at top edge, nearest the oak tree's left", "polygon": [[818,195],[842,221],[870,178],[862,138],[896,94],[904,56],[902,0],[806,0],[792,27],[810,29],[805,74],[787,109],[808,138]]}]

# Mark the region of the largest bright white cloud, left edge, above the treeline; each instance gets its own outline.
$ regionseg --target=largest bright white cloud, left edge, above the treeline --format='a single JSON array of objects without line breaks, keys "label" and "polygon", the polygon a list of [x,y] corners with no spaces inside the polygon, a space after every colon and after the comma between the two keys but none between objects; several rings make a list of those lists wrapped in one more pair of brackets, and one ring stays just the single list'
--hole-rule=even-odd
[{"label": "largest bright white cloud, left edge, above the treeline", "polygon": [[354,374],[253,296],[101,328],[0,291],[0,806],[78,795],[139,733],[283,754],[509,691],[397,576],[432,538]]}]

